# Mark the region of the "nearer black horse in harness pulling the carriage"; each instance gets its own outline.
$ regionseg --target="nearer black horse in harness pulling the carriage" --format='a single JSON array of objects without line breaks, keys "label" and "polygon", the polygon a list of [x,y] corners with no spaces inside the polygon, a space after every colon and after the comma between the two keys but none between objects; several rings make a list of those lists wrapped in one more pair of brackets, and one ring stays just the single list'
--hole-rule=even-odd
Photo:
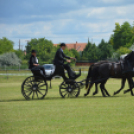
[{"label": "nearer black horse in harness pulling the carriage", "polygon": [[101,83],[100,88],[103,96],[105,96],[105,93],[108,96],[110,96],[107,90],[105,89],[105,83],[109,78],[122,78],[122,79],[126,78],[129,82],[129,87],[130,87],[130,89],[127,90],[126,92],[131,91],[131,95],[134,95],[132,92],[132,88],[133,88],[132,73],[130,72],[132,71],[133,67],[134,67],[133,51],[124,58],[122,63],[121,62],[112,63],[112,62],[103,61],[90,66],[88,71],[88,76],[86,79],[86,88],[88,88],[88,86],[89,88],[87,93],[84,95],[87,96],[89,94],[90,89],[94,83],[96,84],[96,88],[97,88],[97,84]]}]

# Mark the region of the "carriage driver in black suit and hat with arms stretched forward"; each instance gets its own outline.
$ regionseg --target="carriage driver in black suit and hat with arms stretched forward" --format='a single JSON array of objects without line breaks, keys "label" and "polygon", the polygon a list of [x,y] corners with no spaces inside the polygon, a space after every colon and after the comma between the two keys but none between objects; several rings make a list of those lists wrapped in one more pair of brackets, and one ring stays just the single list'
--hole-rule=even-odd
[{"label": "carriage driver in black suit and hat with arms stretched forward", "polygon": [[70,79],[76,79],[77,77],[79,77],[81,75],[81,72],[76,75],[76,73],[71,70],[71,68],[70,68],[70,66],[68,64],[64,64],[65,61],[70,63],[71,62],[70,59],[76,60],[76,58],[68,57],[68,56],[66,56],[63,53],[63,50],[65,48],[66,48],[66,44],[65,43],[61,43],[60,44],[60,49],[58,49],[56,54],[55,54],[54,65],[61,65],[61,66],[63,66],[63,68],[67,70],[69,78]]}]

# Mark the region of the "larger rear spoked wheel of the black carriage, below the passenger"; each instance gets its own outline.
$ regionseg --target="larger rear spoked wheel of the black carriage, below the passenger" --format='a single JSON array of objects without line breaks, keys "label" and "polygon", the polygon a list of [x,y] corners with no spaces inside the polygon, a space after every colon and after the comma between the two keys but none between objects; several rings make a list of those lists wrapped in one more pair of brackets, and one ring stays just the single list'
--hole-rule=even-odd
[{"label": "larger rear spoked wheel of the black carriage, below the passenger", "polygon": [[43,99],[48,91],[45,80],[40,77],[31,76],[26,78],[21,87],[22,95],[25,99]]}]

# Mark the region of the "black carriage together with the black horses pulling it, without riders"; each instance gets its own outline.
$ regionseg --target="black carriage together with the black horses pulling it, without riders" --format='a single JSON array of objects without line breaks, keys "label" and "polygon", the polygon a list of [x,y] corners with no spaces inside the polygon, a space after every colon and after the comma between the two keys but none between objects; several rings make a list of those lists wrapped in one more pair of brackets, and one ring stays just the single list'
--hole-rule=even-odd
[{"label": "black carriage together with the black horses pulling it, without riders", "polygon": [[[84,85],[87,87],[87,93],[84,96],[87,96],[92,88],[93,84],[96,84],[96,91],[93,95],[98,93],[97,85],[100,83],[100,89],[104,97],[110,96],[105,88],[105,84],[109,78],[120,78],[122,79],[121,88],[114,92],[114,95],[118,94],[125,85],[126,79],[128,80],[129,89],[125,90],[124,93],[131,92],[133,93],[133,77],[134,77],[134,52],[132,51],[128,54],[123,61],[115,63],[109,61],[101,61],[93,64],[89,67],[88,75],[86,80],[76,82],[75,79],[69,79],[65,76],[64,68],[61,65],[56,65],[55,71],[50,76],[44,76],[41,70],[31,70],[33,76],[30,76],[25,79],[22,84],[22,94],[26,99],[36,98],[43,99],[48,92],[47,81],[51,80],[55,75],[60,75],[63,78],[63,82],[59,86],[60,95],[65,97],[78,97],[80,94],[80,89]],[[84,83],[86,82],[86,83]]]}]

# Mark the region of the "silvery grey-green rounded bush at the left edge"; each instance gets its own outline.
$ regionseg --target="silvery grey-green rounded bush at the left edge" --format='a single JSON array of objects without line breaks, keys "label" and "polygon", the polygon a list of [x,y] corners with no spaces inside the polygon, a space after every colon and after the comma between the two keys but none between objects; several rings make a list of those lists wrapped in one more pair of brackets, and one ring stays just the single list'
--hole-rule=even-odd
[{"label": "silvery grey-green rounded bush at the left edge", "polygon": [[17,57],[14,52],[5,53],[0,55],[0,65],[19,65],[21,60]]}]

